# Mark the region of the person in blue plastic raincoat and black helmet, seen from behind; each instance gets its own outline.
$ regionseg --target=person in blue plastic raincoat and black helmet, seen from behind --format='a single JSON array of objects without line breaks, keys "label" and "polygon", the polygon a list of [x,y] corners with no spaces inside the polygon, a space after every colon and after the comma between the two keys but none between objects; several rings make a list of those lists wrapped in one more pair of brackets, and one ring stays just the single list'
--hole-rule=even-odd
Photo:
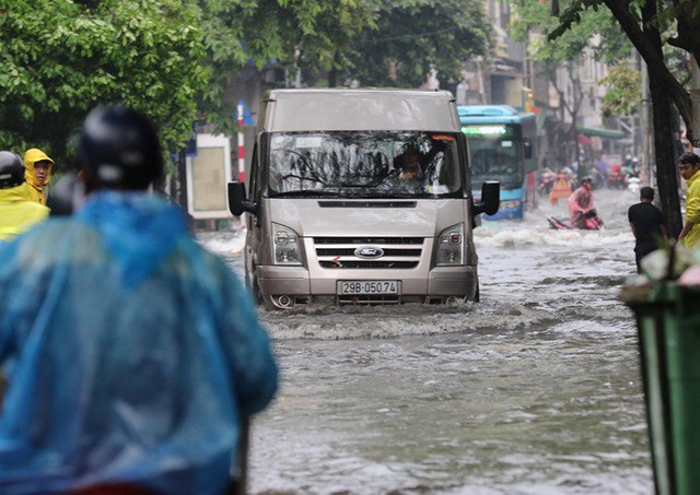
[{"label": "person in blue plastic raincoat and black helmet, seen from behind", "polygon": [[0,493],[221,494],[242,422],[277,390],[269,337],[180,209],[147,192],[163,165],[145,117],[93,110],[79,162],[84,204],[0,250]]}]

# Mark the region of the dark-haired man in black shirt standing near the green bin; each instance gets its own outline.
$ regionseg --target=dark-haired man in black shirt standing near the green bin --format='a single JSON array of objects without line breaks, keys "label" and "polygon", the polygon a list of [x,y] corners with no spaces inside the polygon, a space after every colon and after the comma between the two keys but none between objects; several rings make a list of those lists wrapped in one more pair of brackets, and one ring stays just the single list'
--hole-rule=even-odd
[{"label": "dark-haired man in black shirt standing near the green bin", "polygon": [[637,239],[634,244],[634,257],[637,260],[637,272],[641,273],[641,261],[646,255],[658,248],[661,239],[666,240],[666,228],[664,227],[664,214],[652,204],[654,201],[654,189],[643,187],[640,190],[640,202],[632,204],[628,211],[630,227]]}]

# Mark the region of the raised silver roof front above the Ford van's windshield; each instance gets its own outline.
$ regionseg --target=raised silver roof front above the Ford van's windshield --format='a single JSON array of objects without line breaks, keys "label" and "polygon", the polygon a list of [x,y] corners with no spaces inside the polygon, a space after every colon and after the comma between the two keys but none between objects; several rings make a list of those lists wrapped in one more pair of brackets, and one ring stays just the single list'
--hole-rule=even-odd
[{"label": "raised silver roof front above the Ford van's windshield", "polygon": [[262,130],[459,132],[460,125],[448,91],[303,89],[270,92]]}]

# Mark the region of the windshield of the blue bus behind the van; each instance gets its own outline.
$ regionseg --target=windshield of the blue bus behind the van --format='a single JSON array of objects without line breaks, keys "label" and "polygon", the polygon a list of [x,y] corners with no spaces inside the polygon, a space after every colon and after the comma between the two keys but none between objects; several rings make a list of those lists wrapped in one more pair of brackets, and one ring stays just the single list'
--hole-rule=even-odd
[{"label": "windshield of the blue bus behind the van", "polygon": [[463,127],[469,142],[474,184],[499,180],[503,185],[523,182],[520,137],[514,126],[503,123]]}]

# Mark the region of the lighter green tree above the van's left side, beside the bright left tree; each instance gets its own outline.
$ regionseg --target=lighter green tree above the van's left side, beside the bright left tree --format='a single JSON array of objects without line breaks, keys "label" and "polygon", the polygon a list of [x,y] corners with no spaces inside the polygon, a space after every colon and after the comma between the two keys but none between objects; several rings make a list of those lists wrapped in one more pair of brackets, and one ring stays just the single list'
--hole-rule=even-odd
[{"label": "lighter green tree above the van's left side, beside the bright left tree", "polygon": [[363,0],[189,0],[199,10],[210,83],[199,108],[217,131],[231,133],[225,91],[246,64],[288,71],[337,70],[350,64],[353,40],[373,26]]}]

